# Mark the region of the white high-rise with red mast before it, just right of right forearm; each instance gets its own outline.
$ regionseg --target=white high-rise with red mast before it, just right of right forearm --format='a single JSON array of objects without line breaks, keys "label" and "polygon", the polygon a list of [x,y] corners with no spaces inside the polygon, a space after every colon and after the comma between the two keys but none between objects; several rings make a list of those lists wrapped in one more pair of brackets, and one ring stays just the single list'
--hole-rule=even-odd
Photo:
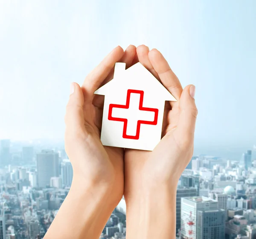
[{"label": "white high-rise with red mast before it, just right of right forearm", "polygon": [[181,198],[181,236],[183,238],[199,238],[197,231],[198,211],[216,209],[218,209],[218,202],[207,197]]}]

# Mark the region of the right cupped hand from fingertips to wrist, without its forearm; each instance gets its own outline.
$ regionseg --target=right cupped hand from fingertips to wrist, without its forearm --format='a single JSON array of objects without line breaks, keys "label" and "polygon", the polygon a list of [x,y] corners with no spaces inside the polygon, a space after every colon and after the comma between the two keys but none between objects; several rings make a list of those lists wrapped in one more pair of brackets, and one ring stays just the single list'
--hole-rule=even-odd
[{"label": "right cupped hand from fingertips to wrist, without its forearm", "polygon": [[160,185],[176,187],[181,173],[192,158],[194,146],[195,86],[182,89],[163,55],[147,46],[137,47],[137,58],[177,99],[166,101],[162,139],[153,151],[125,149],[126,203],[149,188]]}]

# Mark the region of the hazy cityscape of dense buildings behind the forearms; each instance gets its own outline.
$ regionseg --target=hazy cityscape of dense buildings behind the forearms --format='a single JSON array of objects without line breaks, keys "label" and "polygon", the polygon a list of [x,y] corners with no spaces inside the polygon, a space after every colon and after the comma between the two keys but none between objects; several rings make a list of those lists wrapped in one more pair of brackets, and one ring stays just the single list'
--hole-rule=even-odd
[{"label": "hazy cityscape of dense buildings behind the forearms", "polygon": [[[177,239],[256,239],[256,155],[195,155],[176,194]],[[42,239],[69,192],[63,142],[0,140],[0,239]],[[125,239],[121,200],[100,239]]]}]

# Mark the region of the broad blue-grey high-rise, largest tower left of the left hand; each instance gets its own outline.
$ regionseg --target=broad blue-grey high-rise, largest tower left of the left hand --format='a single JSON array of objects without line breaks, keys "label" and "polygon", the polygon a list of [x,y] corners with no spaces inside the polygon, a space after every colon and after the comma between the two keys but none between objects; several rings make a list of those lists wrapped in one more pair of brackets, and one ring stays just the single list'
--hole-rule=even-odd
[{"label": "broad blue-grey high-rise, largest tower left of the left hand", "polygon": [[59,176],[58,153],[53,150],[42,150],[37,154],[38,187],[50,184],[51,177]]}]

